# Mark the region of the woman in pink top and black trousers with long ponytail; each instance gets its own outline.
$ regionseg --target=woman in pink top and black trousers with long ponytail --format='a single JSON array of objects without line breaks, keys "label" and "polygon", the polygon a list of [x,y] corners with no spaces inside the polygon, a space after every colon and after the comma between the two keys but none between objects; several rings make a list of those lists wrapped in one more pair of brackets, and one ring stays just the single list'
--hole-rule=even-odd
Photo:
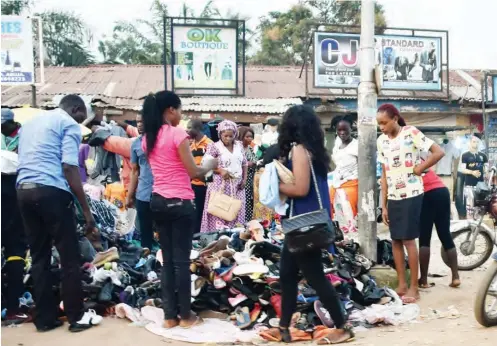
[{"label": "woman in pink top and black trousers with long ponytail", "polygon": [[164,259],[161,289],[165,328],[189,328],[202,322],[191,313],[190,306],[190,251],[196,215],[190,182],[217,168],[216,160],[209,167],[195,165],[188,134],[177,127],[180,120],[181,100],[175,93],[160,91],[145,99],[142,149],[154,177],[150,208]]}]

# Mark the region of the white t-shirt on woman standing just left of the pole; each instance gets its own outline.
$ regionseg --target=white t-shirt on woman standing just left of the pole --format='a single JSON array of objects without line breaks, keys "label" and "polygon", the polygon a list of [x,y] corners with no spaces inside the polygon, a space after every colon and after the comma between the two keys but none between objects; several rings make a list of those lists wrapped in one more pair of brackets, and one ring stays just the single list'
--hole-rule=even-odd
[{"label": "white t-shirt on woman standing just left of the pole", "polygon": [[336,165],[333,171],[333,187],[339,188],[343,183],[358,179],[359,172],[357,160],[359,144],[357,139],[352,139],[345,148],[340,149],[342,141],[337,137],[331,158]]}]

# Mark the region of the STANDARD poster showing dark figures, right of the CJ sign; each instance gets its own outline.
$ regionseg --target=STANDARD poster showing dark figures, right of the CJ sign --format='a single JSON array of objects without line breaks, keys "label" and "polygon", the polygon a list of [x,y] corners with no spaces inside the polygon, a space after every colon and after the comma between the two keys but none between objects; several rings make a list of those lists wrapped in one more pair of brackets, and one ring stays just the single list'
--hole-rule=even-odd
[{"label": "STANDARD poster showing dark figures, right of the CJ sign", "polygon": [[441,38],[382,35],[383,89],[442,90]]}]

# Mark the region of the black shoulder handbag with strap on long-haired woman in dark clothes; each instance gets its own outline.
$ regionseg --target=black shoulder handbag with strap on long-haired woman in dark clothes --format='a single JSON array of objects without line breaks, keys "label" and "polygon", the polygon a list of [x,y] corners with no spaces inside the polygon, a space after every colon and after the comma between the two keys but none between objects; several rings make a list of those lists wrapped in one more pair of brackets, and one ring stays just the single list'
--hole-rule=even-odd
[{"label": "black shoulder handbag with strap on long-haired woman in dark clothes", "polygon": [[323,208],[323,201],[319,193],[316,173],[314,172],[309,152],[307,152],[307,158],[311,166],[311,178],[316,189],[319,209],[293,216],[294,199],[292,198],[290,202],[290,217],[281,222],[285,241],[291,253],[326,248],[334,242],[336,237],[335,227],[331,222],[330,214],[327,209]]}]

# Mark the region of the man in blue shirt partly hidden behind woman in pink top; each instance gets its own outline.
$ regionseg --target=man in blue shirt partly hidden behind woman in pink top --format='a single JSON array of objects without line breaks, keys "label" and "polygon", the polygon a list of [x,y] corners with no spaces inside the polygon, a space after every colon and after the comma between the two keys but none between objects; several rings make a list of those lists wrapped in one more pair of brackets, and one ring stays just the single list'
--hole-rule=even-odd
[{"label": "man in blue shirt partly hidden behind woman in pink top", "polygon": [[142,150],[143,121],[141,114],[136,116],[136,127],[140,136],[135,138],[131,144],[131,176],[126,204],[128,208],[136,207],[142,246],[152,250],[154,231],[150,196],[152,195],[154,178],[147,156]]}]

